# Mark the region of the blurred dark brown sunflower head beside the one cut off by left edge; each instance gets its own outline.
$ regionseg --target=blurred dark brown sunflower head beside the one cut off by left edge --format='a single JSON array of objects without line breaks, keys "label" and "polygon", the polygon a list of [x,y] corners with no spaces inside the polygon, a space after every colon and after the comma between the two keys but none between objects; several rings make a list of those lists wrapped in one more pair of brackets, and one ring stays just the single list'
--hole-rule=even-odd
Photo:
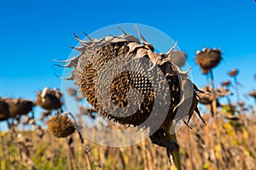
[{"label": "blurred dark brown sunflower head beside the one cut off by left edge", "polygon": [[30,111],[32,111],[32,108],[34,106],[33,101],[29,99],[5,98],[3,99],[3,101],[9,105],[10,117],[26,115]]}]

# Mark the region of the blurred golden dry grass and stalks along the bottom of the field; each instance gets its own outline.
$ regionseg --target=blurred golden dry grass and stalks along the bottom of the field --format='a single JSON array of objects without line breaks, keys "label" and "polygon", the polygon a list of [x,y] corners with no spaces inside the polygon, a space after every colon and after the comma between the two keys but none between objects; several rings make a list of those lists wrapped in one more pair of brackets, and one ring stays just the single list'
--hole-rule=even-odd
[{"label": "blurred golden dry grass and stalks along the bottom of the field", "polygon": [[[242,114],[233,120],[227,116],[205,115],[207,127],[194,116],[193,129],[183,126],[177,132],[183,169],[253,169],[256,167],[256,116]],[[93,133],[93,129],[92,129]],[[42,139],[34,131],[23,132],[32,140],[29,155],[22,156],[17,133],[0,137],[1,169],[169,169],[166,150],[147,139],[124,148],[104,147],[79,135],[56,139],[48,132]],[[26,141],[26,140],[25,140]],[[26,146],[26,144],[24,144]],[[25,147],[26,149],[26,147]],[[29,162],[34,163],[34,167]]]}]

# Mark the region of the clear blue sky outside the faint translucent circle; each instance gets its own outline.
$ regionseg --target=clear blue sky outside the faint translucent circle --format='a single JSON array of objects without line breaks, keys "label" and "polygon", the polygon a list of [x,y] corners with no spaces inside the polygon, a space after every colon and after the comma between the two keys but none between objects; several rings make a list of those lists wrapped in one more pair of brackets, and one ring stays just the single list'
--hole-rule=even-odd
[{"label": "clear blue sky outside the faint translucent circle", "polygon": [[67,59],[77,44],[73,32],[96,31],[118,23],[153,26],[178,41],[188,54],[194,82],[206,78],[195,65],[195,51],[220,48],[224,60],[216,82],[241,70],[243,93],[256,88],[256,3],[253,0],[179,1],[1,1],[0,96],[35,99],[36,91],[61,88],[52,59]]}]

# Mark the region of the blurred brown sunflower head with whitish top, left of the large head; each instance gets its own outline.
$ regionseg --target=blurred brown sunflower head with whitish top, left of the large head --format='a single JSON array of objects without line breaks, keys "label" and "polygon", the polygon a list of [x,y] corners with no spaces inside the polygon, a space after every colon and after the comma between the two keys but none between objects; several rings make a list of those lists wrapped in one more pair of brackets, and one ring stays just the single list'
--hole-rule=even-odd
[{"label": "blurred brown sunflower head with whitish top, left of the large head", "polygon": [[36,104],[49,111],[61,109],[61,97],[61,92],[56,88],[44,88],[42,92],[38,92]]}]

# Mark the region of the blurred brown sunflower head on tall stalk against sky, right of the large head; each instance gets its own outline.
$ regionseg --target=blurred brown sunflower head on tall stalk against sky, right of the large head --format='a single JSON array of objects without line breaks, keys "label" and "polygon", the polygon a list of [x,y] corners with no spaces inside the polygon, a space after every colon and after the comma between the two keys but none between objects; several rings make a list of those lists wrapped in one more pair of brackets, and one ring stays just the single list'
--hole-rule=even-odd
[{"label": "blurred brown sunflower head on tall stalk against sky, right of the large head", "polygon": [[203,48],[202,51],[196,51],[195,61],[200,65],[204,74],[207,74],[208,71],[217,66],[221,59],[221,51],[217,48]]}]

